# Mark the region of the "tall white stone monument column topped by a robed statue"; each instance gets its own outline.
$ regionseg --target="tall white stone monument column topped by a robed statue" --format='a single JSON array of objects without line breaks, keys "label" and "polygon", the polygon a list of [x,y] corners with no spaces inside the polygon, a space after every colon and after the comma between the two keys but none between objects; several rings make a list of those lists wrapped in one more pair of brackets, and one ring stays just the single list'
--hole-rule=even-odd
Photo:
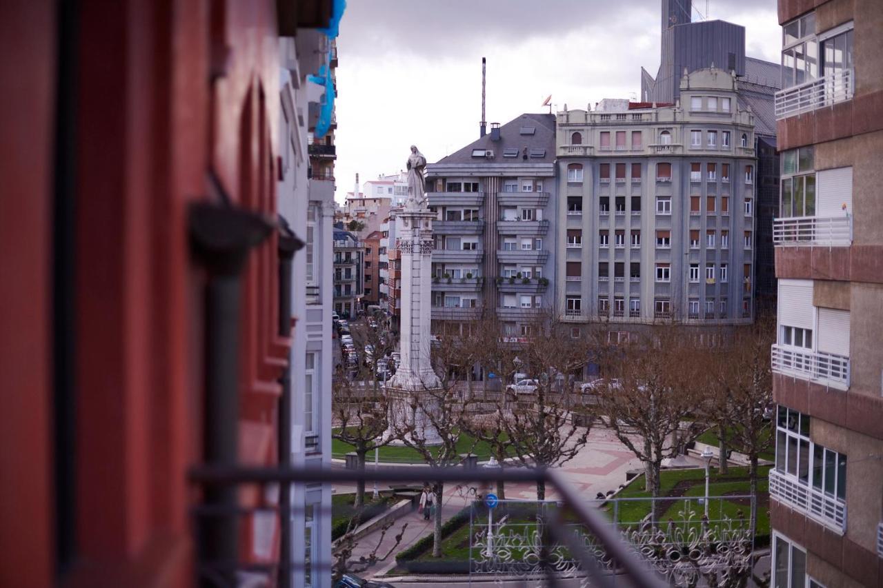
[{"label": "tall white stone monument column topped by a robed statue", "polygon": [[[432,252],[434,214],[426,207],[423,170],[426,158],[411,147],[408,158],[408,200],[396,216],[399,258],[402,263],[400,298],[401,363],[387,382],[390,400],[390,431],[413,426],[427,444],[441,443],[427,412],[434,410],[434,394],[441,389],[430,360],[432,324]],[[415,408],[416,406],[416,408]]]}]

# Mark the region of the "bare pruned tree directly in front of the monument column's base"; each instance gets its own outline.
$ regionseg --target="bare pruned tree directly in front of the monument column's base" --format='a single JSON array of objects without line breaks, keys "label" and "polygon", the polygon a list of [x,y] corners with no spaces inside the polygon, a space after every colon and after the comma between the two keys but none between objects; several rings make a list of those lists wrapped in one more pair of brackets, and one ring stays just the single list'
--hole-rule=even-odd
[{"label": "bare pruned tree directly in front of the monument column's base", "polygon": [[[463,434],[465,417],[471,401],[457,392],[456,372],[461,366],[461,350],[456,335],[437,335],[432,349],[432,363],[439,376],[439,385],[424,386],[407,394],[398,402],[392,401],[391,419],[396,437],[404,445],[416,450],[423,461],[432,467],[446,468],[463,462],[457,449]],[[401,393],[400,393],[401,394]],[[476,441],[468,448],[475,449]],[[433,556],[442,556],[442,500],[444,484],[434,483]]]}]

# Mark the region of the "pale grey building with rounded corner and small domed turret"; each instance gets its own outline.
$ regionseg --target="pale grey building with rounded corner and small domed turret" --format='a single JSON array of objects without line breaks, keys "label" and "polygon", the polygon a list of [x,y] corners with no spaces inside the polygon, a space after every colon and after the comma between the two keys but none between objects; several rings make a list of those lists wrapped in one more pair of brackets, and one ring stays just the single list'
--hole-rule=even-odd
[{"label": "pale grey building with rounded corner and small domed turret", "polygon": [[735,77],[713,69],[684,76],[675,106],[606,100],[559,112],[562,317],[751,322],[753,132]]}]

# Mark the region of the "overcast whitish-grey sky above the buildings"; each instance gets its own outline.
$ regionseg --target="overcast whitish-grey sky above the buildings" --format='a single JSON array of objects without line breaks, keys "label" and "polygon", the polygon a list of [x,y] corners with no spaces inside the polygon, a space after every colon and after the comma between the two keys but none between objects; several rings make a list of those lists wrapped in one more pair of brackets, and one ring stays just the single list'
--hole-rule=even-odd
[{"label": "overcast whitish-grey sky above the buildings", "polygon": [[[415,144],[436,162],[552,94],[555,109],[637,97],[660,63],[660,0],[348,0],[337,41],[336,198],[404,168]],[[693,20],[745,26],[746,53],[779,61],[776,0],[705,0]]]}]

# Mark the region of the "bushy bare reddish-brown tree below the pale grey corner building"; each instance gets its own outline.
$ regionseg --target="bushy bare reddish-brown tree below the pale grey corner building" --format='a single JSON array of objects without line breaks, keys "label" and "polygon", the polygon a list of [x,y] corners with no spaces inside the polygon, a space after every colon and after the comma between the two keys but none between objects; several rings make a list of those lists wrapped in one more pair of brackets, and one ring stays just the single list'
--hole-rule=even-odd
[{"label": "bushy bare reddish-brown tree below the pale grey corner building", "polygon": [[681,328],[661,325],[605,355],[604,371],[618,381],[598,388],[598,418],[644,462],[646,489],[653,497],[660,494],[662,461],[677,456],[695,434],[672,441],[701,397],[694,354],[691,337]]}]

